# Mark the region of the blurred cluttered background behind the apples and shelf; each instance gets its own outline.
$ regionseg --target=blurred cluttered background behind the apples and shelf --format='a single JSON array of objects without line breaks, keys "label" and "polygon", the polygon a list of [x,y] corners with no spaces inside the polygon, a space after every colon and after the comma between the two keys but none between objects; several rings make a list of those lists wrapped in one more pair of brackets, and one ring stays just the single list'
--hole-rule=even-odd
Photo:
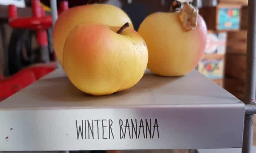
[{"label": "blurred cluttered background behind the apples and shelf", "polygon": [[[192,2],[182,0],[181,2]],[[58,13],[91,3],[123,9],[135,30],[150,13],[169,11],[172,0],[58,0]],[[15,7],[9,7],[14,4]],[[0,0],[0,101],[56,68],[52,46],[50,0]],[[16,9],[17,8],[17,9]],[[208,28],[207,48],[196,69],[243,100],[247,42],[247,0],[198,0]],[[41,13],[37,14],[36,10]],[[33,19],[43,25],[33,27]],[[18,17],[18,18],[17,18]],[[26,20],[22,17],[27,17]],[[17,19],[17,20],[16,20]],[[40,26],[45,30],[38,30]],[[46,50],[46,54],[45,54]],[[44,51],[44,54],[42,53]]]}]

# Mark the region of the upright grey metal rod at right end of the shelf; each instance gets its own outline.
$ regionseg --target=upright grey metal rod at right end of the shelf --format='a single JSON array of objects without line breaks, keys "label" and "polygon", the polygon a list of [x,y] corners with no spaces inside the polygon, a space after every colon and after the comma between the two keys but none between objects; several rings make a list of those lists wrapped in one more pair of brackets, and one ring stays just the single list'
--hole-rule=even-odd
[{"label": "upright grey metal rod at right end of the shelf", "polygon": [[[248,1],[245,104],[255,104],[256,73],[256,0]],[[251,153],[253,146],[253,115],[244,116],[242,153]]]}]

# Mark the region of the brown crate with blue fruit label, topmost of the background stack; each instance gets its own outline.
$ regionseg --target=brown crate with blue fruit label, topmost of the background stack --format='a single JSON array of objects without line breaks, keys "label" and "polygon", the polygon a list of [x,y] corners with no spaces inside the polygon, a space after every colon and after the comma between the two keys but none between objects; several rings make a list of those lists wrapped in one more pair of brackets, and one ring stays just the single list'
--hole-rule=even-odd
[{"label": "brown crate with blue fruit label, topmost of the background stack", "polygon": [[205,19],[208,30],[238,31],[240,29],[241,6],[219,3],[217,7],[203,7],[200,15]]}]

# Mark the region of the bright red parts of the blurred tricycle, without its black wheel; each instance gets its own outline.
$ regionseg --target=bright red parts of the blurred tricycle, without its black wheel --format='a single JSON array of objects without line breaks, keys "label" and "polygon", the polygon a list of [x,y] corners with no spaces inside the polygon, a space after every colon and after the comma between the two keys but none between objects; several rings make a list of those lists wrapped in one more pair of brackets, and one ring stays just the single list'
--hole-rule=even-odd
[{"label": "bright red parts of the blurred tricycle, without its black wheel", "polygon": [[[62,13],[66,9],[68,9],[68,2],[62,1],[58,12]],[[45,16],[45,10],[40,6],[40,0],[32,0],[32,17],[18,18],[17,8],[14,5],[9,5],[8,13],[11,27],[36,30],[37,43],[40,46],[48,45],[46,30],[52,26],[52,18]],[[3,78],[0,75],[0,102],[54,69],[56,69],[56,63],[50,62],[24,68],[8,78]]]}]

